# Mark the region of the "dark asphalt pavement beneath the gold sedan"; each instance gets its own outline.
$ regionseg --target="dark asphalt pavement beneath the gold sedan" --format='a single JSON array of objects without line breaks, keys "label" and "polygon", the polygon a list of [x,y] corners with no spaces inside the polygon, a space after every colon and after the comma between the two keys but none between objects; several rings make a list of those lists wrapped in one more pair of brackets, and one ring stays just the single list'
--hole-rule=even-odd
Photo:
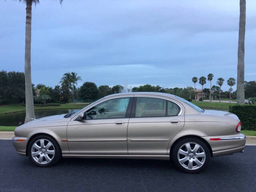
[{"label": "dark asphalt pavement beneath the gold sedan", "polygon": [[38,168],[10,140],[0,140],[0,191],[256,192],[256,146],[212,158],[200,174],[185,174],[162,160],[71,158]]}]

